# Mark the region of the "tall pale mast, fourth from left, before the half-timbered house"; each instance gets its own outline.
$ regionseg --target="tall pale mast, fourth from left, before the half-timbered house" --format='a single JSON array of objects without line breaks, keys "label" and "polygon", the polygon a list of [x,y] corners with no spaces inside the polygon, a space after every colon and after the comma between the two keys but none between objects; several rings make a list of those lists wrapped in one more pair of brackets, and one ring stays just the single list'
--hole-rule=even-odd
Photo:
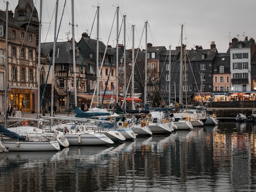
[{"label": "tall pale mast, fourth from left, before the half-timbered house", "polygon": [[72,2],[72,45],[73,45],[73,69],[74,69],[74,103],[77,106],[76,94],[76,64],[75,64],[75,40],[74,40],[74,0]]}]

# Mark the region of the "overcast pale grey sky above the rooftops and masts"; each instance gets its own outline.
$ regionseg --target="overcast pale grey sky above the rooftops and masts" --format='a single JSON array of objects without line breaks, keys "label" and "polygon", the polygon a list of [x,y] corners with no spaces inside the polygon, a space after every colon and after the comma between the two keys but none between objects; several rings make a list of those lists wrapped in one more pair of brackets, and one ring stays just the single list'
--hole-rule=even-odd
[{"label": "overcast pale grey sky above the rooftops and masts", "polygon": [[[42,42],[54,41],[56,0],[43,0]],[[75,40],[82,32],[96,39],[97,6],[100,7],[99,38],[105,45],[116,46],[119,6],[119,43],[123,43],[123,15],[126,15],[126,45],[132,47],[131,26],[135,25],[135,48],[145,48],[145,21],[148,21],[147,42],[153,46],[165,46],[172,50],[180,46],[181,25],[183,24],[183,44],[187,49],[196,45],[210,48],[214,41],[219,53],[225,53],[232,37],[256,38],[256,0],[74,0]],[[65,0],[59,0],[57,27],[63,12]],[[34,0],[38,11],[40,0]],[[9,0],[9,10],[15,10],[18,0]],[[0,1],[0,9],[6,3]],[[115,17],[115,19],[114,19]],[[96,19],[93,24],[94,18]],[[57,41],[67,41],[72,37],[71,0],[66,0],[63,20]],[[113,23],[113,28],[111,26]],[[121,29],[120,29],[121,27]],[[108,43],[108,39],[109,43]]]}]

